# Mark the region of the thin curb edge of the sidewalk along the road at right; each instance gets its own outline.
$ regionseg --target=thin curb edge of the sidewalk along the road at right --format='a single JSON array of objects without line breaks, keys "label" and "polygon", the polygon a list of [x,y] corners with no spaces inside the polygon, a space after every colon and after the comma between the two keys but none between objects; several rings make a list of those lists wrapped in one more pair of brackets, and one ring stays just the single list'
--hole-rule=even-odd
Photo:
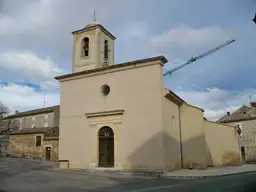
[{"label": "thin curb edge of the sidewalk along the road at right", "polygon": [[237,172],[237,173],[227,173],[227,174],[223,174],[223,175],[163,176],[163,178],[164,179],[206,179],[206,178],[213,178],[213,177],[225,177],[225,176],[230,176],[230,175],[239,175],[239,174],[252,173],[252,172],[256,172],[256,170]]}]

